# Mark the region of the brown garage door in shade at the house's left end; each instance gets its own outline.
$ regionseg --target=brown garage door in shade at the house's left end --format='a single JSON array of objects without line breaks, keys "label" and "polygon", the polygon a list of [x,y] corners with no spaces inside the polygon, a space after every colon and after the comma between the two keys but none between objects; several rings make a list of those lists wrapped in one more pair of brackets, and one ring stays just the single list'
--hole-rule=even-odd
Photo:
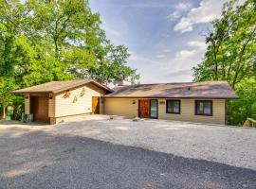
[{"label": "brown garage door in shade at the house's left end", "polygon": [[37,122],[48,123],[48,98],[47,96],[30,96],[30,112]]}]

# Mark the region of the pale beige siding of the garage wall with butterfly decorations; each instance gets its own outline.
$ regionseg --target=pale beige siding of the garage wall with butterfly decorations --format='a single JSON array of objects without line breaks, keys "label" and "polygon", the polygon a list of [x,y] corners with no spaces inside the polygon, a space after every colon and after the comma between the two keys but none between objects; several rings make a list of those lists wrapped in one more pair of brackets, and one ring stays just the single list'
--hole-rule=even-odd
[{"label": "pale beige siding of the garage wall with butterfly decorations", "polygon": [[[85,94],[81,96],[82,88],[85,89]],[[92,112],[92,96],[101,96],[104,94],[104,91],[93,84],[86,84],[71,90],[70,97],[68,98],[64,98],[64,94],[55,96],[55,117]],[[74,103],[75,96],[77,96],[78,100]]]}]

